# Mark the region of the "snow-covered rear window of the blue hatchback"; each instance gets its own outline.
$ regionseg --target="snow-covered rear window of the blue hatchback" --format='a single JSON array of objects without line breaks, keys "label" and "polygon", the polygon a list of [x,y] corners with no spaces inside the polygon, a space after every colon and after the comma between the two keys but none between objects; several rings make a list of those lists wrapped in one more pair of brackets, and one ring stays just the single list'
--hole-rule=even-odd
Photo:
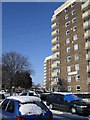
[{"label": "snow-covered rear window of the blue hatchback", "polygon": [[47,112],[48,108],[40,101],[19,103],[21,115],[40,115]]}]

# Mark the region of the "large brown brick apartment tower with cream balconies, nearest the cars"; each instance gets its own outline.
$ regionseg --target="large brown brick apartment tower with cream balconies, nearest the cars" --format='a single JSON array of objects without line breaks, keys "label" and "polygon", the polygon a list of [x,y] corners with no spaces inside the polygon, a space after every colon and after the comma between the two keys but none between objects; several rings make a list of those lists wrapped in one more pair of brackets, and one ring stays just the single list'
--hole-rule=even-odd
[{"label": "large brown brick apartment tower with cream balconies, nearest the cars", "polygon": [[90,92],[90,1],[68,0],[54,11],[52,78],[63,91]]}]

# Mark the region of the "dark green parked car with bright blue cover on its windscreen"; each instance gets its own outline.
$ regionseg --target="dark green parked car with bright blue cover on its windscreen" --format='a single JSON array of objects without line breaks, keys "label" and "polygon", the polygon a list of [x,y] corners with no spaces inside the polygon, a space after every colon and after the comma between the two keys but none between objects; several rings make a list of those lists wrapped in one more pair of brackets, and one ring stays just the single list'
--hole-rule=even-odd
[{"label": "dark green parked car with bright blue cover on its windscreen", "polygon": [[90,104],[74,94],[52,93],[48,96],[46,104],[49,105],[50,109],[57,109],[74,114],[90,115]]}]

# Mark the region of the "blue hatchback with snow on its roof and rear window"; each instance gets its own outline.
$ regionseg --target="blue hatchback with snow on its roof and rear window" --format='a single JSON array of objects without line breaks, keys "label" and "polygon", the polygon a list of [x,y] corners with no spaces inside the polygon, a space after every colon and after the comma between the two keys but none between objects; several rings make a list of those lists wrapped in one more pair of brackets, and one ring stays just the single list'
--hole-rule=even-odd
[{"label": "blue hatchback with snow on its roof and rear window", "polygon": [[[52,120],[51,111],[35,96],[11,96],[0,105],[2,120]],[[1,120],[1,119],[0,119]]]}]

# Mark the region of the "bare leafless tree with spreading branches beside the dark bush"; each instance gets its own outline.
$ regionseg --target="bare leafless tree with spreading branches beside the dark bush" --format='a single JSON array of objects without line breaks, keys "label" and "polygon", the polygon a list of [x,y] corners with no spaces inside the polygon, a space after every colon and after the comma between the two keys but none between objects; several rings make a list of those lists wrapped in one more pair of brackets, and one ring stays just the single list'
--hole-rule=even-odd
[{"label": "bare leafless tree with spreading branches beside the dark bush", "polygon": [[32,73],[31,64],[28,62],[28,58],[12,51],[2,55],[2,67],[2,78],[3,80],[7,79],[9,82],[10,94],[12,94],[12,85],[17,71],[28,71],[30,75]]}]

